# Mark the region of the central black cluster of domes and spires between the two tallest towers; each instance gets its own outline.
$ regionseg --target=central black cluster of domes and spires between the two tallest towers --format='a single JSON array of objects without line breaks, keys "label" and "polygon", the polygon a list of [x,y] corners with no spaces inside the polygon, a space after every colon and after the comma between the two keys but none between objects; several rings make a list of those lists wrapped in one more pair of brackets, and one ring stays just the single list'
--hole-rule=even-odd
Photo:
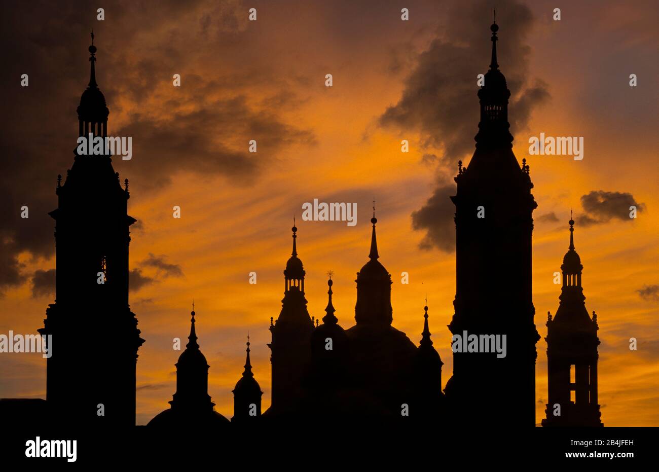
[{"label": "central black cluster of domes and spires between the two tallest towers", "polygon": [[420,346],[391,326],[391,275],[378,260],[375,214],[368,262],[357,273],[355,326],[344,330],[332,305],[314,326],[304,299],[304,269],[293,253],[284,271],[285,294],[272,332],[272,405],[264,417],[347,421],[364,418],[436,419],[442,403],[442,360],[432,347],[425,307]]}]

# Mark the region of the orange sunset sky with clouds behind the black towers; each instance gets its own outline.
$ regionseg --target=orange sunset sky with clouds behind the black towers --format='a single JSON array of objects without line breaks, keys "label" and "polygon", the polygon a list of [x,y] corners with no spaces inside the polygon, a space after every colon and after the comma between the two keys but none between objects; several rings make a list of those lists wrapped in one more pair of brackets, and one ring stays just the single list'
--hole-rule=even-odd
[{"label": "orange sunset sky with clouds behind the black towers", "polygon": [[[658,7],[559,3],[496,1],[513,150],[520,162],[527,158],[538,202],[536,423],[547,401],[546,313],[558,307],[553,274],[567,251],[572,208],[586,307],[600,326],[602,421],[659,426]],[[7,7],[0,210],[11,216],[0,233],[0,333],[35,333],[54,299],[54,221],[46,213],[57,206],[57,174],[73,162],[93,28],[109,134],[132,136],[133,144],[132,160],[113,165],[130,180],[129,214],[138,220],[130,244],[130,306],[146,339],[137,363],[138,424],[169,407],[180,355],[172,339],[188,336],[192,299],[215,409],[233,415],[248,332],[263,409],[270,405],[268,326],[281,309],[294,215],[310,314],[324,316],[332,270],[336,316],[353,326],[372,198],[380,262],[393,280],[393,325],[418,343],[427,293],[445,384],[455,295],[447,197],[458,160],[468,165],[474,149],[476,74],[490,62],[493,5],[107,1],[103,21],[96,5]],[[248,21],[252,7],[255,22]],[[552,20],[556,7],[560,21]],[[27,88],[19,86],[22,73],[30,76]],[[181,74],[180,88],[173,74]],[[637,87],[629,74],[637,74]],[[583,160],[529,156],[529,137],[540,133],[583,136]],[[248,153],[251,139],[256,154]],[[357,225],[301,221],[302,204],[314,198],[357,202]],[[629,202],[640,208],[633,220]],[[18,218],[22,205],[29,220]],[[172,218],[175,205],[180,220]],[[492,307],[492,316],[505,313]],[[93,333],[80,341],[84,355],[112,349]],[[45,359],[0,354],[0,379],[0,398],[45,398]]]}]

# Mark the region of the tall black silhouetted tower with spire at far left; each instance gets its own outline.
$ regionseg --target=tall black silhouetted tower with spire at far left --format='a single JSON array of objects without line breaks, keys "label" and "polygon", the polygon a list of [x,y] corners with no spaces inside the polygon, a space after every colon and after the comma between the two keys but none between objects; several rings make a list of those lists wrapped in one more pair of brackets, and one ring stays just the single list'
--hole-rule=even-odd
[{"label": "tall black silhouetted tower with spire at far left", "polygon": [[[90,80],[78,106],[78,135],[107,136],[109,111],[96,83],[92,32]],[[129,307],[128,180],[119,183],[111,156],[79,155],[61,183],[55,220],[56,299],[43,335],[53,336],[46,398],[69,422],[98,427],[135,424],[140,338]]]}]

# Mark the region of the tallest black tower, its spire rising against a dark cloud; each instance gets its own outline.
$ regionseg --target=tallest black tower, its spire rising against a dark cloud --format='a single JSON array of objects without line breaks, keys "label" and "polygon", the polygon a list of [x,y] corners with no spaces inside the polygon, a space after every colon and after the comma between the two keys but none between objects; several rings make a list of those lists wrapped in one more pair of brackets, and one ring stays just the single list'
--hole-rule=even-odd
[{"label": "tallest black tower, its spire rising against a dark cloud", "polygon": [[529,166],[519,165],[509,131],[510,91],[492,60],[478,90],[480,123],[469,167],[459,162],[455,204],[456,292],[453,335],[506,335],[507,355],[453,354],[447,398],[481,421],[535,424],[536,342],[531,285],[532,212]]}]

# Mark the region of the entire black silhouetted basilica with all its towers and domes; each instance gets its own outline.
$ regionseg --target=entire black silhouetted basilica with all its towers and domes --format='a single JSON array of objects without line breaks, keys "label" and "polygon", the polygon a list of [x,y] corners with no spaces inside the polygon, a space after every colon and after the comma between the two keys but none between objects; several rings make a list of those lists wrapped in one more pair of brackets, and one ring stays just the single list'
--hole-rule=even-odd
[{"label": "entire black silhouetted basilica with all its towers and domes", "polygon": [[[454,350],[453,375],[442,393],[443,363],[431,339],[428,307],[423,313],[418,309],[419,345],[392,326],[392,281],[380,262],[375,208],[368,260],[355,280],[354,326],[344,328],[349,316],[337,316],[333,307],[333,296],[347,294],[333,293],[331,274],[326,314],[322,323],[314,324],[304,295],[306,272],[294,223],[281,312],[276,320],[270,318],[271,406],[262,413],[263,392],[252,373],[248,340],[244,372],[233,390],[233,419],[214,411],[208,394],[211,367],[200,350],[193,305],[188,343],[176,363],[176,392],[169,409],[154,417],[146,430],[187,431],[186,427],[198,426],[221,431],[254,421],[296,420],[449,423],[457,416],[462,423],[535,425],[540,336],[532,301],[532,212],[537,204],[529,165],[526,160],[519,165],[513,154],[510,92],[497,62],[498,26],[493,24],[491,30],[492,61],[478,90],[476,150],[469,167],[459,162],[457,193],[451,197],[457,289],[448,328],[454,336],[505,335],[507,355]],[[109,111],[96,84],[93,39],[92,34],[90,82],[78,107],[78,134],[104,137]],[[128,181],[121,186],[111,156],[76,152],[65,182],[58,177],[56,192],[59,205],[50,215],[56,221],[57,297],[39,330],[52,334],[57,344],[47,361],[46,403],[67,423],[132,427],[136,359],[144,339],[129,307],[129,228],[136,220],[127,213]],[[598,326],[594,312],[590,318],[585,309],[583,266],[574,249],[573,224],[571,220],[569,251],[561,266],[560,305],[547,322],[549,399],[542,422],[546,426],[602,425],[597,403]],[[364,254],[367,237],[364,233]],[[82,344],[90,339],[93,346]],[[2,411],[15,406],[0,402]]]}]

